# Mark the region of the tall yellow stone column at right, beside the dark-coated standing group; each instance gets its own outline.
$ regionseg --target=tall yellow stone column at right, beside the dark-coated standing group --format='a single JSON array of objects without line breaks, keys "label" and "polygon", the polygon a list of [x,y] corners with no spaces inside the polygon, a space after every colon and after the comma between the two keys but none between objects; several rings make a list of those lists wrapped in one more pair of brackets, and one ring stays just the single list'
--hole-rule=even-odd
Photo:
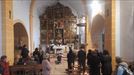
[{"label": "tall yellow stone column at right, beside the dark-coated standing group", "polygon": [[105,0],[105,49],[112,56],[113,69],[115,68],[115,0]]}]

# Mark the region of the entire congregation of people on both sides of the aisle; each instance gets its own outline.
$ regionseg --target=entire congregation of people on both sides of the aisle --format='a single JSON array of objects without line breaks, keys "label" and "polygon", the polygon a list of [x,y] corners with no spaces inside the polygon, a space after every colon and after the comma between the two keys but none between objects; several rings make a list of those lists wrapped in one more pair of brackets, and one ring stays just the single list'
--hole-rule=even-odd
[{"label": "entire congregation of people on both sides of the aisle", "polygon": [[[50,58],[50,48],[46,48],[43,51],[41,48],[35,48],[35,51],[30,55],[29,50],[24,45],[20,48],[20,58],[15,62],[14,65],[29,65],[29,64],[41,64],[42,65],[42,75],[51,75],[51,58]],[[62,60],[62,55],[60,57],[57,55],[57,61]],[[78,52],[74,52],[72,47],[69,47],[69,52],[67,53],[67,71],[69,73],[73,72],[75,67],[75,62],[78,62],[78,72],[84,75],[85,72],[88,75],[133,75],[134,64],[128,65],[120,57],[116,57],[116,69],[112,70],[112,57],[110,56],[108,50],[88,50],[86,53],[85,47],[81,46]],[[58,64],[60,64],[58,63]],[[57,64],[57,63],[55,63]],[[9,62],[7,61],[7,56],[1,56],[0,60],[0,74],[10,75]]]}]

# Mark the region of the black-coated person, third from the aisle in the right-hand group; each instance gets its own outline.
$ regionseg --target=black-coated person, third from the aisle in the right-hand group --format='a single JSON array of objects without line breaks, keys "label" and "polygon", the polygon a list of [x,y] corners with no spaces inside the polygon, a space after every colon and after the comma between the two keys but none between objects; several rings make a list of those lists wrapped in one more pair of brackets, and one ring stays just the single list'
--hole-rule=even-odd
[{"label": "black-coated person, third from the aisle in the right-hand group", "polygon": [[100,75],[100,59],[96,51],[92,51],[89,66],[90,75]]}]

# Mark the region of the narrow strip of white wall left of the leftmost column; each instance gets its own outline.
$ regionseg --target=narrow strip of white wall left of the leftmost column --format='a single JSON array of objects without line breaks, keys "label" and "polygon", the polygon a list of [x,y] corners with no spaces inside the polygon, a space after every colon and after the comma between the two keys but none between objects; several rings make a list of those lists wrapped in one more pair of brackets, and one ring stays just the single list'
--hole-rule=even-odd
[{"label": "narrow strip of white wall left of the leftmost column", "polygon": [[2,55],[2,4],[0,1],[0,56]]}]

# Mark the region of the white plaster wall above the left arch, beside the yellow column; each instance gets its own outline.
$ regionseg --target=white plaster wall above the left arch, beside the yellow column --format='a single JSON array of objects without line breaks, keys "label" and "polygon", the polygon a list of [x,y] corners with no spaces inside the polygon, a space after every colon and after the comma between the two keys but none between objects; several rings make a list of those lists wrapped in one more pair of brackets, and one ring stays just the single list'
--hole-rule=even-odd
[{"label": "white plaster wall above the left arch, beside the yellow column", "polygon": [[[13,20],[21,20],[28,33],[30,44],[29,8],[31,0],[13,0]],[[30,45],[29,45],[30,46]],[[30,48],[30,47],[29,47]]]}]

